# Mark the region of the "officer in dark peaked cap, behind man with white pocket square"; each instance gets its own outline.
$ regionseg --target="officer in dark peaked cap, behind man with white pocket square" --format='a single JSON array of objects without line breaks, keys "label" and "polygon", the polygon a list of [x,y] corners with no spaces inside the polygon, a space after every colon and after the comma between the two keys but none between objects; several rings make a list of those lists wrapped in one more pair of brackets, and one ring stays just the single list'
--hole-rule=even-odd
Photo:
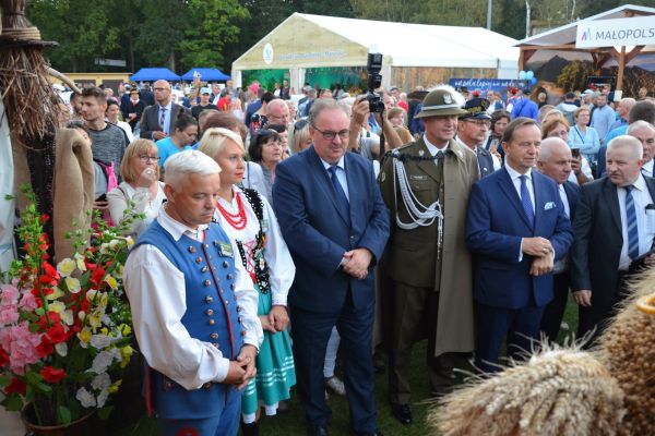
[{"label": "officer in dark peaked cap, behind man with white pocket square", "polygon": [[487,133],[491,126],[488,108],[489,100],[486,98],[472,98],[464,105],[466,113],[461,114],[457,121],[457,141],[475,153],[480,178],[500,169],[500,159],[485,148]]}]

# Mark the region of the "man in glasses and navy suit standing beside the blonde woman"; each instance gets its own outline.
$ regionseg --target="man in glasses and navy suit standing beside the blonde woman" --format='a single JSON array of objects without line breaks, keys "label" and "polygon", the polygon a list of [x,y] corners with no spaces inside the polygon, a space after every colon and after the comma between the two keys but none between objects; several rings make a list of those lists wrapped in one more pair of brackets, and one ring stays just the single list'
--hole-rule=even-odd
[{"label": "man in glasses and navy suit standing beside the blonde woman", "polygon": [[379,435],[371,354],[376,291],[372,267],[389,238],[373,167],[346,153],[350,120],[333,99],[309,114],[313,145],[276,168],[273,204],[296,264],[289,293],[298,396],[310,435],[327,435],[323,361],[332,327],[342,338],[350,427]]}]

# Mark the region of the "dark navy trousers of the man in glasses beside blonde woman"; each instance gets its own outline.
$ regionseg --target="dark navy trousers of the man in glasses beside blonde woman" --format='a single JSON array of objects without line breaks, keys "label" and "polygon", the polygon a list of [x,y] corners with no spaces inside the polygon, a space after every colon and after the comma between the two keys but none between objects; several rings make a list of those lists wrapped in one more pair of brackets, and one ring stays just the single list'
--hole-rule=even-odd
[{"label": "dark navy trousers of the man in glasses beside blonde woman", "polygon": [[294,326],[294,358],[298,397],[309,424],[327,425],[332,416],[325,403],[323,363],[332,327],[341,336],[341,355],[350,412],[350,427],[355,432],[372,433],[376,426],[376,375],[371,341],[374,301],[355,308],[350,291],[340,313],[310,312],[291,306]]}]

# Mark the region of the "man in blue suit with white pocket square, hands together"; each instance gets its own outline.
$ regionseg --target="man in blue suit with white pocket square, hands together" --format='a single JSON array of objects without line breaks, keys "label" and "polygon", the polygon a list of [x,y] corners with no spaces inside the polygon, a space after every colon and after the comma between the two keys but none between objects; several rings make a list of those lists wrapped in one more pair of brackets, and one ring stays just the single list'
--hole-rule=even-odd
[{"label": "man in blue suit with white pocket square, hands together", "polygon": [[573,241],[557,184],[533,171],[541,143],[536,122],[517,118],[502,140],[505,166],[473,185],[466,228],[476,256],[475,361],[484,372],[498,371],[505,338],[510,358],[531,350],[552,300],[553,261]]}]

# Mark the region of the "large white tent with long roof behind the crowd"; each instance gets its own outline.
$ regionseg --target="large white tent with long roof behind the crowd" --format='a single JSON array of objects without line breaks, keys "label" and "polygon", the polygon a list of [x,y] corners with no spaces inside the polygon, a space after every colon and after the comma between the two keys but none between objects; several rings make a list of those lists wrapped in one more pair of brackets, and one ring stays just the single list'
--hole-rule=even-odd
[{"label": "large white tent with long roof behind the crowd", "polygon": [[288,69],[291,86],[298,89],[306,69],[362,66],[372,49],[384,55],[382,74],[386,86],[398,84],[394,81],[394,70],[398,68],[513,78],[519,59],[515,44],[515,39],[481,27],[294,13],[233,63],[233,77],[239,81],[245,70]]}]

